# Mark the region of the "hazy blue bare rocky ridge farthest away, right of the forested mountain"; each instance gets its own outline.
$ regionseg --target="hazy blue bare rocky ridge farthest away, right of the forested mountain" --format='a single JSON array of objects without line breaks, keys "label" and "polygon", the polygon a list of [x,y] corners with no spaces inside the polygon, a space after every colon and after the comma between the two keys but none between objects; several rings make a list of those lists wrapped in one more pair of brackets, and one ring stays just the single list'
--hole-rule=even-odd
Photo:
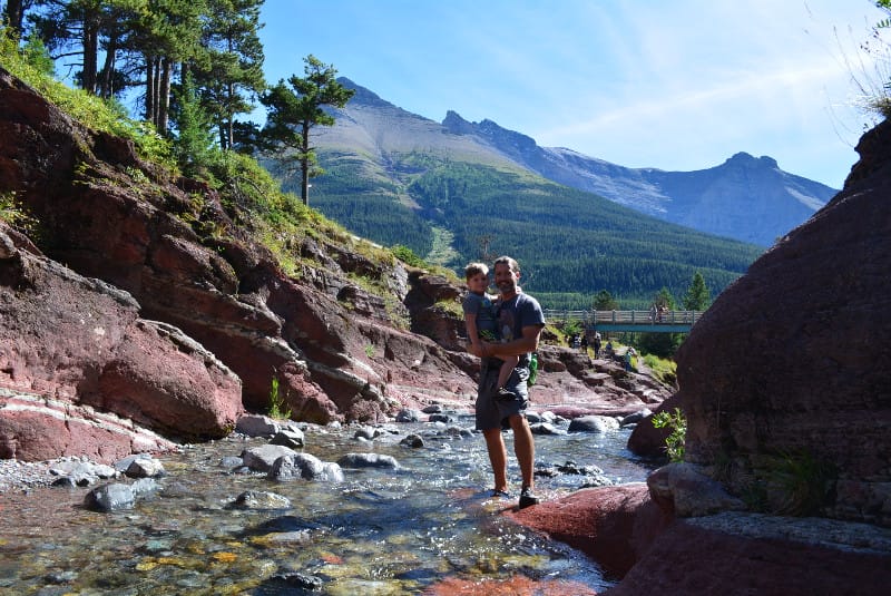
[{"label": "hazy blue bare rocky ridge farthest away, right of the forested mountain", "polygon": [[783,172],[770,157],[756,159],[746,153],[696,172],[627,168],[571,149],[539,147],[531,137],[491,120],[469,123],[453,111],[442,125],[456,135],[488,143],[550,180],[667,222],[761,246],[804,223],[838,192]]}]

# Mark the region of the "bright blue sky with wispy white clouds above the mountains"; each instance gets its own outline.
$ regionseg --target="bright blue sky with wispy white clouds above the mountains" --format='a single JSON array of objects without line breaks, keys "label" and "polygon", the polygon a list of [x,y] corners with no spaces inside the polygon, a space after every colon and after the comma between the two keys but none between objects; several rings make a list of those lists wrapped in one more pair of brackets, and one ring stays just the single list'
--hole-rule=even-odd
[{"label": "bright blue sky with wispy white clouds above the mountains", "polygon": [[882,17],[868,0],[266,0],[261,39],[271,84],[312,53],[437,121],[627,167],[768,155],[840,188],[875,121],[860,87],[891,71],[859,49]]}]

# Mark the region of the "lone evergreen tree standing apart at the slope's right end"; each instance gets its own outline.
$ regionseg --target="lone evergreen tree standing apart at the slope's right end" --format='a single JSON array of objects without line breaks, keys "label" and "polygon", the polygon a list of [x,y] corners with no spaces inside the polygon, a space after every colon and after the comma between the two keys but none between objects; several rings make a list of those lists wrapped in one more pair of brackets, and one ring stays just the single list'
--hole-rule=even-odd
[{"label": "lone evergreen tree standing apart at the slope's right end", "polygon": [[337,82],[334,67],[322,63],[313,55],[303,61],[305,77],[292,75],[287,79],[290,87],[280,80],[263,95],[261,102],[270,108],[263,130],[267,143],[296,149],[302,175],[301,198],[304,205],[309,205],[310,177],[322,173],[316,165],[315,150],[310,146],[310,129],[317,125],[333,126],[334,117],[322,108],[342,108],[355,90]]}]

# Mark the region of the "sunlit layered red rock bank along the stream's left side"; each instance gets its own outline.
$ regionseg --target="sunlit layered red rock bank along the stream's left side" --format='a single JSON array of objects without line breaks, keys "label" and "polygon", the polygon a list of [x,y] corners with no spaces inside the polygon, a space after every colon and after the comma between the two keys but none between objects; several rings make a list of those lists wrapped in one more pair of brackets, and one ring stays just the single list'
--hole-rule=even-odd
[{"label": "sunlit layered red rock bank along the stream's left side", "polygon": [[[108,460],[165,442],[151,431],[218,437],[268,407],[273,379],[294,419],[320,423],[472,403],[461,287],[323,229],[288,240],[287,275],[213,188],[2,69],[0,193],[38,222],[32,237],[0,234],[0,457]],[[627,413],[668,394],[569,351],[548,358],[542,406]],[[102,448],[108,424],[120,436]]]}]

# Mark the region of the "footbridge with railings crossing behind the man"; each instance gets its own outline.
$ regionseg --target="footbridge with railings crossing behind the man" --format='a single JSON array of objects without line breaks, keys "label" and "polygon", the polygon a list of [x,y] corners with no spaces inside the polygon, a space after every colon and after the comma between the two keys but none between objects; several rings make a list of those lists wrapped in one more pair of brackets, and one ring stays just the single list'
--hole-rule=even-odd
[{"label": "footbridge with railings crossing behind the man", "polygon": [[561,311],[545,310],[545,321],[579,321],[588,331],[689,333],[703,311]]}]

